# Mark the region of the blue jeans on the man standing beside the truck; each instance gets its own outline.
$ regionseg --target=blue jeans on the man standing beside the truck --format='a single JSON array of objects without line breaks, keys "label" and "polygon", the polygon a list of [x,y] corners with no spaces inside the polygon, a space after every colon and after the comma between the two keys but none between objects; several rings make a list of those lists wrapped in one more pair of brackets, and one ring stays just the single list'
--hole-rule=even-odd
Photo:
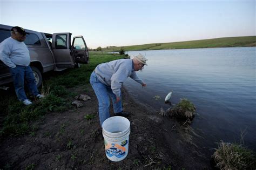
[{"label": "blue jeans on the man standing beside the truck", "polygon": [[24,81],[31,94],[37,96],[38,90],[36,86],[36,79],[30,66],[16,65],[14,69],[10,68],[12,79],[14,80],[15,92],[19,101],[28,99],[24,91]]}]

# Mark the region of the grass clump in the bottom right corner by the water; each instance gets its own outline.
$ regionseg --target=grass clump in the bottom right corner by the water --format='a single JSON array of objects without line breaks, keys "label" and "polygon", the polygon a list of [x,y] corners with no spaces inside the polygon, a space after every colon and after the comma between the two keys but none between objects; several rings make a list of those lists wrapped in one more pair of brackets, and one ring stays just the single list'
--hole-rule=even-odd
[{"label": "grass clump in the bottom right corner by the water", "polygon": [[255,154],[239,144],[220,141],[212,155],[215,167],[220,169],[255,169]]}]

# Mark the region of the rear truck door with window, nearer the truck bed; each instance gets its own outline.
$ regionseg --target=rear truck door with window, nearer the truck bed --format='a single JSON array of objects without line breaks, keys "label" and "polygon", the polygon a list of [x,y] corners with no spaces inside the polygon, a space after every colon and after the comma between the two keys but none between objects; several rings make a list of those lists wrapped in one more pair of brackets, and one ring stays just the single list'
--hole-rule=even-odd
[{"label": "rear truck door with window, nearer the truck bed", "polygon": [[71,51],[71,33],[53,33],[52,51],[58,68],[73,68],[75,60]]}]

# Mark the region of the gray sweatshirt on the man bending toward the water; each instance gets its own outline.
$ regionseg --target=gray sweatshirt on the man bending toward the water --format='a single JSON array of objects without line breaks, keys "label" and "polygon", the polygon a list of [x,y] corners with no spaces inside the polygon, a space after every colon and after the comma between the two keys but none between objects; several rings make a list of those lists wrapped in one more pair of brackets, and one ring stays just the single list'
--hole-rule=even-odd
[{"label": "gray sweatshirt on the man bending toward the water", "polygon": [[109,63],[99,64],[95,69],[95,73],[99,81],[111,86],[113,93],[118,97],[121,94],[122,84],[128,77],[143,84],[142,79],[133,70],[132,59],[118,59]]}]

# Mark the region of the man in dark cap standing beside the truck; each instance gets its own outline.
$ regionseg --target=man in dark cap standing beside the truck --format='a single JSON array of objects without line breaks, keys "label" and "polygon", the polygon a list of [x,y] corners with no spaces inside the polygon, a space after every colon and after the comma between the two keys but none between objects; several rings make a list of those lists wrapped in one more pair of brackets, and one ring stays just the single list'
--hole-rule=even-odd
[{"label": "man in dark cap standing beside the truck", "polygon": [[38,93],[36,80],[29,66],[29,49],[24,43],[26,34],[29,33],[25,32],[23,28],[14,26],[11,29],[11,37],[6,38],[0,44],[0,59],[10,69],[18,99],[22,101],[24,105],[30,105],[32,103],[26,97],[24,91],[24,80],[27,83],[29,91],[34,96],[38,98],[44,96]]}]

